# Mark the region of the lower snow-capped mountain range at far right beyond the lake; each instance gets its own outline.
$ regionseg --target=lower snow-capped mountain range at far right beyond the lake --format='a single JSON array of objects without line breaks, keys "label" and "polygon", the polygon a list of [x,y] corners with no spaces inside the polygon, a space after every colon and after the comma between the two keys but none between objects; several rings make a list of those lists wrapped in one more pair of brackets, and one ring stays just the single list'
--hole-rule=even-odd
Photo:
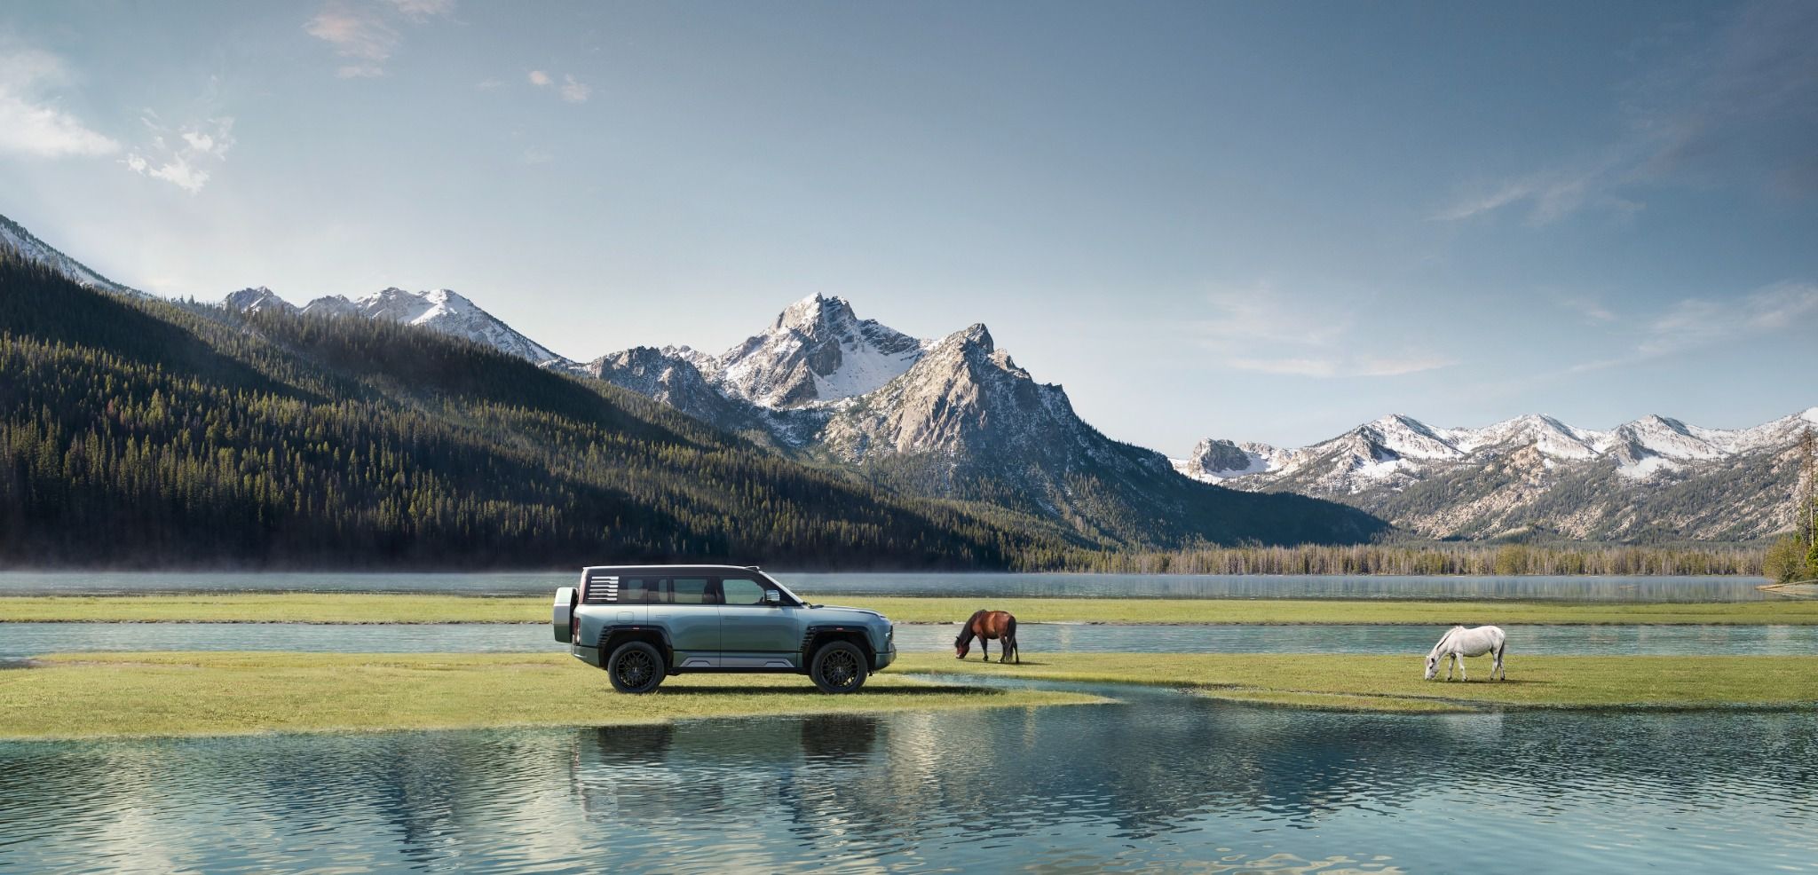
[{"label": "lower snow-capped mountain range at far right beyond the lake", "polygon": [[1433,427],[1393,415],[1305,448],[1202,440],[1174,468],[1247,491],[1333,498],[1438,538],[1747,540],[1793,526],[1818,407],[1747,429],[1642,417]]}]

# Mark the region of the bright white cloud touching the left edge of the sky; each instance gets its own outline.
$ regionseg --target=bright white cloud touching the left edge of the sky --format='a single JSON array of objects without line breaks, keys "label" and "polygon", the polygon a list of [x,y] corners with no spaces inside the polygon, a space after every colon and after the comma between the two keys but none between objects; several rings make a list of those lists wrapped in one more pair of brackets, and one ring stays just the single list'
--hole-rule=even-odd
[{"label": "bright white cloud touching the left edge of the sky", "polygon": [[67,84],[69,73],[56,55],[36,49],[0,55],[0,153],[62,158],[120,151],[118,142],[47,96]]}]

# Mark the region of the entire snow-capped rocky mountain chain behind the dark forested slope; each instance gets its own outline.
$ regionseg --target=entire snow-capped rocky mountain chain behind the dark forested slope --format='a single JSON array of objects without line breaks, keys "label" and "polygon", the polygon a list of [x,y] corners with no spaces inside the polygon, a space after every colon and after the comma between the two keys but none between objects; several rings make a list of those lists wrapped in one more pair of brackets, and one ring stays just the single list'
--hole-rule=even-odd
[{"label": "entire snow-capped rocky mountain chain behind the dark forested slope", "polygon": [[[75,282],[133,293],[11,222],[0,231]],[[1002,506],[1096,544],[1354,540],[1380,529],[1324,500],[1440,538],[1758,538],[1793,524],[1794,446],[1818,426],[1818,407],[1738,431],[1663,417],[1589,431],[1538,415],[1442,429],[1394,415],[1305,448],[1207,438],[1169,460],[1085,424],[1060,386],[1018,367],[985,326],[914,338],[858,318],[838,297],[802,298],[716,355],[633,347],[587,362],[449,289],[296,307],[253,287],[224,304],[420,326],[634,391],[796,460]]]}]

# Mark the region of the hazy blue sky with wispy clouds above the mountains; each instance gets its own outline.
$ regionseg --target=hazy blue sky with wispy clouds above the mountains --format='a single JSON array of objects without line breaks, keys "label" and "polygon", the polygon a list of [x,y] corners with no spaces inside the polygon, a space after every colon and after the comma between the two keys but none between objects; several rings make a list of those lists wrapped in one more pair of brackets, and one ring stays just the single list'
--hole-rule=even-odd
[{"label": "hazy blue sky with wispy clouds above the mountains", "polygon": [[1818,4],[0,5],[0,213],[574,358],[809,293],[1105,433],[1818,404]]}]

